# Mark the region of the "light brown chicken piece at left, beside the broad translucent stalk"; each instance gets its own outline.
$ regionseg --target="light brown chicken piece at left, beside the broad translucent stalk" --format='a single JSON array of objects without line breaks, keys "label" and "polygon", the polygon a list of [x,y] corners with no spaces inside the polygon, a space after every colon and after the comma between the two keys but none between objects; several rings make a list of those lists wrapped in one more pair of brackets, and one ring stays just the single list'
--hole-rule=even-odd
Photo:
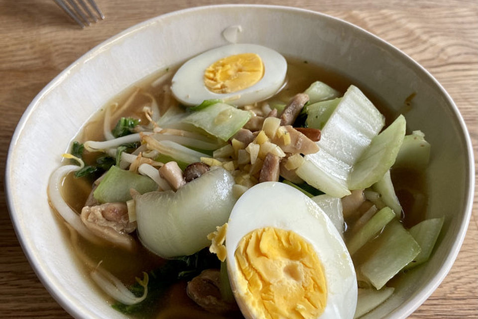
[{"label": "light brown chicken piece at left, beside the broad translucent stalk", "polygon": [[115,246],[134,249],[135,241],[128,234],[136,229],[136,222],[129,222],[125,203],[85,206],[81,210],[81,220],[95,235]]}]

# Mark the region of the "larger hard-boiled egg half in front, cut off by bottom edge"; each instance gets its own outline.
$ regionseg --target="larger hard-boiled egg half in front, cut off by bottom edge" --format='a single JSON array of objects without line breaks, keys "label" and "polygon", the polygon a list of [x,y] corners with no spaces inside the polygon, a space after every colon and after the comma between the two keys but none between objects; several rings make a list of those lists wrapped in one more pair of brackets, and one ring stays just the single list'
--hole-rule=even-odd
[{"label": "larger hard-boiled egg half in front, cut off by bottom edge", "polygon": [[259,183],[234,206],[227,266],[247,319],[352,319],[354,265],[329,217],[299,190]]}]

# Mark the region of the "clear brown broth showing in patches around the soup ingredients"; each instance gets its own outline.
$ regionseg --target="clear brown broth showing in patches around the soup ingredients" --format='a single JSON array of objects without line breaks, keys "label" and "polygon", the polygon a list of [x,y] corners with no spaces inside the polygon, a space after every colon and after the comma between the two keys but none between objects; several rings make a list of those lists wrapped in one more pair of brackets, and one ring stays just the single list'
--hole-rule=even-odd
[{"label": "clear brown broth showing in patches around the soup ingredients", "polygon": [[[312,82],[317,80],[327,83],[342,93],[345,93],[347,88],[352,84],[352,82],[345,76],[330,72],[321,66],[313,65],[293,58],[287,60],[287,83],[281,92],[271,98],[273,101],[280,100],[282,102],[287,102],[292,96],[303,92]],[[172,72],[173,70],[170,70],[171,76],[174,73]],[[114,103],[118,103],[119,105],[124,104],[128,97],[138,88],[143,92],[152,94],[157,99],[158,104],[161,104],[163,99],[163,85],[152,87],[151,83],[163,73],[164,70],[159,71],[139,81],[138,83],[135,83],[132,87],[119,93],[119,95],[114,97],[105,105],[105,107],[108,107]],[[164,84],[167,83],[167,81],[164,82]],[[384,107],[384,103],[377,97],[374,97],[371,92],[364,91],[364,93],[374,103],[379,111],[386,116],[388,121],[390,121],[393,113]],[[112,128],[118,121],[119,116],[139,117],[142,121],[144,121],[145,119],[142,118],[140,110],[148,101],[149,99],[147,97],[138,94],[134,102],[122,114],[117,115],[112,119]],[[177,102],[171,101],[171,103]],[[99,141],[104,139],[104,109],[105,108],[92,117],[92,119],[84,126],[82,132],[76,137],[76,141],[85,142],[87,140]],[[162,113],[163,112],[164,110],[162,110]],[[88,152],[85,151],[85,155],[87,157],[89,156],[90,161],[94,160],[97,156],[97,154],[88,155],[87,153]],[[399,194],[400,201],[403,201],[402,204],[405,210],[404,222],[407,226],[412,225],[415,221],[415,218],[408,217],[407,213],[409,210],[414,209],[413,203],[409,203],[410,200],[407,198],[407,196],[409,196],[407,192],[410,189],[413,189],[413,192],[415,193],[425,194],[426,199],[426,192],[424,191],[426,181],[422,176],[420,177],[421,179],[419,179],[420,182],[417,183],[416,177],[411,176],[409,172],[398,170],[393,171],[392,178],[394,184],[397,185],[396,189]],[[92,186],[88,180],[85,178],[74,178],[72,175],[67,176],[63,183],[63,193],[65,200],[78,213],[81,212],[81,208],[83,207],[88,194],[91,192],[91,189]],[[423,214],[419,215],[419,218],[422,218]],[[103,267],[112,272],[123,283],[132,284],[134,283],[135,277],[141,276],[141,272],[153,270],[164,262],[163,259],[155,256],[147,249],[143,248],[139,244],[139,241],[137,246],[137,250],[134,253],[129,253],[117,248],[98,247],[88,243],[86,240],[80,239],[76,249],[79,249],[83,253],[87,254],[89,258],[95,262],[102,261]],[[173,285],[166,294],[166,300],[158,305],[158,308],[160,309],[155,310],[155,313],[152,314],[151,318],[223,318],[221,316],[212,315],[203,311],[199,306],[192,302],[186,295],[185,286],[185,282],[178,282],[177,284]],[[108,297],[105,296],[105,299],[108,299]]]}]

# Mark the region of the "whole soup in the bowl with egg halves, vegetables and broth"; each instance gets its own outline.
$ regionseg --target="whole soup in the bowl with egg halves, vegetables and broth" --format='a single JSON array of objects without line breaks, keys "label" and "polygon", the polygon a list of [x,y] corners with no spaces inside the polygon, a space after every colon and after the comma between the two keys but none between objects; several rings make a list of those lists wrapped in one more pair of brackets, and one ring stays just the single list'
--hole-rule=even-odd
[{"label": "whole soup in the bowl with egg halves, vegetables and broth", "polygon": [[358,318],[443,223],[424,219],[430,145],[382,105],[269,48],[215,48],[105,105],[49,199],[128,316]]}]

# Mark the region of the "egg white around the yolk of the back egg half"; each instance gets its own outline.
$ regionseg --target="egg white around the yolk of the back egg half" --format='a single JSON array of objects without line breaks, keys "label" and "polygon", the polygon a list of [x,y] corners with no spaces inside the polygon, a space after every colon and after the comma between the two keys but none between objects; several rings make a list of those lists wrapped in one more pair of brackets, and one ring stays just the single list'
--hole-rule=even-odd
[{"label": "egg white around the yolk of the back egg half", "polygon": [[[204,71],[214,62],[241,53],[256,53],[264,64],[264,76],[256,84],[238,92],[213,93],[204,85]],[[204,100],[223,99],[242,106],[267,99],[283,85],[287,62],[278,52],[257,44],[229,44],[203,52],[184,63],[173,76],[171,91],[185,105],[198,105]]]}]

